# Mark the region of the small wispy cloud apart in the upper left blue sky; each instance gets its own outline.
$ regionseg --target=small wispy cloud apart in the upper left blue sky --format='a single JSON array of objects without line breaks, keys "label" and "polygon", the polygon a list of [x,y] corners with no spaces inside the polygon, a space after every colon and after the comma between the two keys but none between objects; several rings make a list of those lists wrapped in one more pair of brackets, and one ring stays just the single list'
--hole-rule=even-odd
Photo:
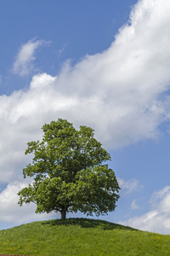
[{"label": "small wispy cloud apart in the upper left blue sky", "polygon": [[49,42],[43,40],[35,41],[34,39],[23,44],[19,49],[16,60],[14,61],[13,73],[19,74],[20,76],[29,74],[34,67],[33,64],[36,59],[35,52],[37,48],[48,44]]}]

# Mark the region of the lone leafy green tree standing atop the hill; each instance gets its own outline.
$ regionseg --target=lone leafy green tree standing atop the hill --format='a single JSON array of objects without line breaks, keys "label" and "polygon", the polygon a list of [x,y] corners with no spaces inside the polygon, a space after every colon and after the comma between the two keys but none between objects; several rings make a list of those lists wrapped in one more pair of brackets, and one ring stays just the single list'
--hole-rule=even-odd
[{"label": "lone leafy green tree standing atop the hill", "polygon": [[32,165],[23,169],[33,183],[18,192],[20,206],[37,204],[36,212],[84,212],[104,215],[115,210],[119,185],[115,173],[102,165],[110,154],[94,138],[94,130],[77,131],[65,119],[42,126],[42,142],[27,143],[26,154],[34,154]]}]

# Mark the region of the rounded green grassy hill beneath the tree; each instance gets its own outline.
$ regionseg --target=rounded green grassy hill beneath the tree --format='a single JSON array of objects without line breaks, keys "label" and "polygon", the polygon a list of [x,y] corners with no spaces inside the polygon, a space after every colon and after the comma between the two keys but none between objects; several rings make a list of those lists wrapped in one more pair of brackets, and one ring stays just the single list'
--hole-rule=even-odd
[{"label": "rounded green grassy hill beneath the tree", "polygon": [[170,236],[88,218],[23,224],[0,230],[0,254],[170,255]]}]

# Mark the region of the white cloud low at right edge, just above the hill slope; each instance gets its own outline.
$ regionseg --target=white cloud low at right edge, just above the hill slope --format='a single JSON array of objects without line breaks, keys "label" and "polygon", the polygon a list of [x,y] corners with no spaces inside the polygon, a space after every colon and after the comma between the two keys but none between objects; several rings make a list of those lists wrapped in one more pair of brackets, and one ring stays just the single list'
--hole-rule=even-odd
[{"label": "white cloud low at right edge, just above the hill slope", "polygon": [[170,186],[155,192],[150,199],[150,211],[121,224],[139,230],[170,234]]}]

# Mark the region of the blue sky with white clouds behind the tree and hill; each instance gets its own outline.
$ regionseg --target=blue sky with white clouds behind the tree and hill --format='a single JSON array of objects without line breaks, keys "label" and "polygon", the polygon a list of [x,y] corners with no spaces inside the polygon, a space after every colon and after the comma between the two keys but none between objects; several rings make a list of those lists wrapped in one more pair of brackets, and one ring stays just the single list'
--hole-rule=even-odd
[{"label": "blue sky with white clouds behind the tree and hill", "polygon": [[169,0],[0,1],[0,229],[60,218],[17,192],[26,143],[61,118],[111,154],[121,197],[99,218],[170,234],[169,12]]}]

